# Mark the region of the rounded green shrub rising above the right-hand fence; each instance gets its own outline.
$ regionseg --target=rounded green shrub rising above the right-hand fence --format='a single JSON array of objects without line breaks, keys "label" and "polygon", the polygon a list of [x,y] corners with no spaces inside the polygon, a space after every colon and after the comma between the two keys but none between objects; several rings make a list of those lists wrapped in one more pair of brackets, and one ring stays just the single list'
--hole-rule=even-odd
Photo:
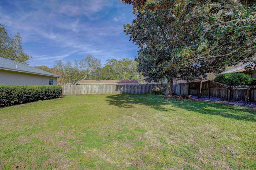
[{"label": "rounded green shrub rising above the right-hand fence", "polygon": [[231,74],[222,74],[222,75],[216,76],[214,81],[227,84],[230,86],[242,86],[242,85],[250,84],[250,76],[240,72],[231,73]]}]

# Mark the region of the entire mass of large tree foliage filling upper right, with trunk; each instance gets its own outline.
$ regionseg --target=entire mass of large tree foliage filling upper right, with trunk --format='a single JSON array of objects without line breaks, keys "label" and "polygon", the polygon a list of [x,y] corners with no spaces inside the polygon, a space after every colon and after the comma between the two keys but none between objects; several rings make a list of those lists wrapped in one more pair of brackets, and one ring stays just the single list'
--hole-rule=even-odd
[{"label": "entire mass of large tree foliage filling upper right, with trunk", "polygon": [[136,19],[124,27],[140,46],[136,59],[148,79],[191,79],[255,57],[253,6],[241,6],[236,0],[125,3],[133,3],[136,8]]}]

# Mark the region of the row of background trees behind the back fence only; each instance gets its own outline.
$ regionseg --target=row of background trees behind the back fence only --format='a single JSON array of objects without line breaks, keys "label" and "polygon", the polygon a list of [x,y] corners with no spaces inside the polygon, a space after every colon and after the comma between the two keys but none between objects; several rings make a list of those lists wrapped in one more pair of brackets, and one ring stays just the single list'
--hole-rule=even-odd
[{"label": "row of background trees behind the back fence only", "polygon": [[55,62],[52,68],[46,65],[35,66],[41,70],[62,76],[58,85],[74,84],[81,80],[138,80],[144,83],[142,73],[138,73],[138,63],[132,59],[108,59],[102,67],[100,59],[88,55],[85,59],[73,63],[61,60]]}]

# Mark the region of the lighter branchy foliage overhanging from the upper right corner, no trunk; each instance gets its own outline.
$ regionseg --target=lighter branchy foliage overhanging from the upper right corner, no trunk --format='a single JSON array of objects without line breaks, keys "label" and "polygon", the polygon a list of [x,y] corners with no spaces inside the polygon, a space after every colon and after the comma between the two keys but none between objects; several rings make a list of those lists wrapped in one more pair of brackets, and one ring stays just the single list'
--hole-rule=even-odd
[{"label": "lighter branchy foliage overhanging from the upper right corner, no trunk", "polygon": [[[133,4],[134,13],[144,10],[174,16],[177,23],[195,21],[190,61],[226,59],[226,64],[252,61],[256,53],[256,2],[254,0],[121,0]],[[150,4],[150,5],[148,5]],[[174,23],[172,19],[165,23]],[[187,36],[187,34],[185,34]]]}]

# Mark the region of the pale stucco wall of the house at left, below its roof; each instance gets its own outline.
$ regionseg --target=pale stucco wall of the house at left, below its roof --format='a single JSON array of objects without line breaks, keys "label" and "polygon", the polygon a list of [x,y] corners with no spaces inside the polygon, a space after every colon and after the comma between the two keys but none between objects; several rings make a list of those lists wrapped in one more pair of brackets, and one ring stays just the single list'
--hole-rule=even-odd
[{"label": "pale stucco wall of the house at left, below its roof", "polygon": [[49,78],[57,85],[57,77],[0,70],[0,84],[3,85],[49,85]]}]

